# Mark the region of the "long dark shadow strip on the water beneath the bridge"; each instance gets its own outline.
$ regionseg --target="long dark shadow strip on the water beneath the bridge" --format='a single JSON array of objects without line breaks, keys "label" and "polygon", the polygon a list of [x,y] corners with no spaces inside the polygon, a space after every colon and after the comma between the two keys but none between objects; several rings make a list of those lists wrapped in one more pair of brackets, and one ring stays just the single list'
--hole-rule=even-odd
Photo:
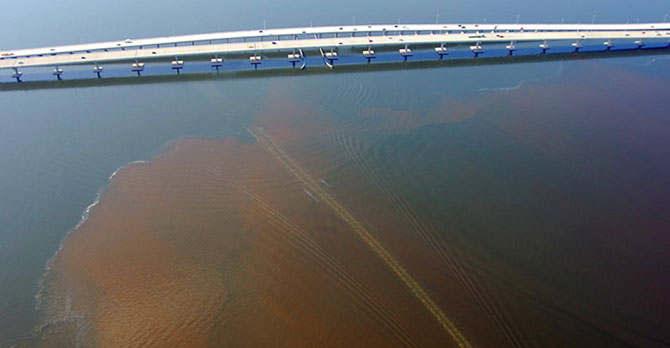
[{"label": "long dark shadow strip on the water beneath the bridge", "polygon": [[334,69],[327,66],[309,66],[305,70],[291,67],[272,67],[265,69],[249,69],[222,72],[206,73],[185,73],[185,74],[165,74],[148,76],[124,76],[107,77],[102,79],[73,79],[73,80],[50,80],[50,81],[27,81],[22,83],[6,82],[0,83],[0,91],[21,91],[21,90],[39,90],[39,89],[57,89],[57,88],[82,88],[82,87],[103,87],[103,86],[123,86],[123,85],[141,85],[157,83],[174,83],[185,81],[204,81],[204,80],[225,80],[225,79],[254,79],[281,76],[301,76],[301,75],[324,75],[329,73],[366,73],[391,70],[416,70],[416,69],[436,69],[450,67],[476,67],[486,65],[503,64],[521,64],[538,63],[552,61],[569,61],[584,59],[607,59],[621,57],[640,57],[654,55],[668,55],[670,47],[653,47],[645,49],[630,49],[616,51],[590,51],[590,52],[571,52],[571,53],[548,53],[538,55],[517,55],[517,56],[495,56],[479,58],[452,58],[445,60],[409,60],[398,62],[372,62],[369,64],[345,64],[338,65]]}]

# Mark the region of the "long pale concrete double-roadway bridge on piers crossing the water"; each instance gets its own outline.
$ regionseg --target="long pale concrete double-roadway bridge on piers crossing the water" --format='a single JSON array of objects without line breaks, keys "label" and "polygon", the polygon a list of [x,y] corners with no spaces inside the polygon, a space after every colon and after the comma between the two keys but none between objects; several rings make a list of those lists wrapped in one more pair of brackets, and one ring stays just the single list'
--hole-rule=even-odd
[{"label": "long pale concrete double-roadway bridge on piers crossing the water", "polygon": [[20,49],[0,52],[0,69],[12,69],[21,82],[22,68],[53,66],[58,79],[62,66],[90,64],[101,77],[101,63],[130,62],[138,75],[145,61],[171,59],[177,73],[184,68],[183,58],[207,58],[212,68],[223,66],[227,55],[247,55],[258,67],[263,54],[287,54],[288,62],[304,68],[304,51],[319,52],[324,63],[333,67],[339,59],[338,49],[361,49],[361,56],[370,62],[375,48],[397,47],[405,60],[413,55],[412,47],[433,45],[437,57],[449,54],[448,47],[469,44],[475,57],[484,53],[487,44],[507,44],[512,55],[518,42],[539,42],[538,53],[546,53],[553,41],[571,41],[575,51],[586,40],[601,40],[609,50],[616,42],[634,43],[638,48],[648,41],[670,43],[670,23],[637,24],[389,24],[350,25],[269,30],[246,30],[210,34],[126,39],[90,44]]}]

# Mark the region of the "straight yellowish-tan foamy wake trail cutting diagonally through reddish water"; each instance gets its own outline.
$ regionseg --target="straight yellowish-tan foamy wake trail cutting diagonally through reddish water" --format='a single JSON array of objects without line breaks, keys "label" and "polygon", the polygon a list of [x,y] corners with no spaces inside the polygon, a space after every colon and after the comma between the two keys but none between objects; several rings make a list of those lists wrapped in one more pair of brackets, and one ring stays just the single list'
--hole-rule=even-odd
[{"label": "straight yellowish-tan foamy wake trail cutting diagonally through reddish water", "polygon": [[277,161],[284,166],[296,179],[298,179],[307,189],[318,197],[321,202],[326,204],[338,217],[346,222],[356,235],[361,238],[384,263],[400,278],[400,280],[412,291],[414,296],[430,311],[435,319],[442,325],[447,333],[454,339],[461,348],[472,347],[470,342],[461,334],[454,323],[442,312],[432,298],[419,285],[414,278],[405,270],[404,267],[390,254],[384,246],[374,238],[374,236],[360,223],[356,218],[328,191],[323,189],[318,180],[312,178],[295,160],[293,160],[284,150],[279,147],[270,138],[262,128],[255,127],[249,129],[259,144]]}]

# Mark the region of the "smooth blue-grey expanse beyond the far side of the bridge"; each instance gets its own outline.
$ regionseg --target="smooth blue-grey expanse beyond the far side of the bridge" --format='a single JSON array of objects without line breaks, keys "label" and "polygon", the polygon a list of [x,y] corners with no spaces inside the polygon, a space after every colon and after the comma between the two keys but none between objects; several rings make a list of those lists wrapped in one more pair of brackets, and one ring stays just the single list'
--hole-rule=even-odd
[{"label": "smooth blue-grey expanse beyond the far side of the bridge", "polygon": [[[383,5],[382,5],[383,4]],[[221,30],[357,23],[663,21],[669,0],[5,0],[0,49]]]}]

